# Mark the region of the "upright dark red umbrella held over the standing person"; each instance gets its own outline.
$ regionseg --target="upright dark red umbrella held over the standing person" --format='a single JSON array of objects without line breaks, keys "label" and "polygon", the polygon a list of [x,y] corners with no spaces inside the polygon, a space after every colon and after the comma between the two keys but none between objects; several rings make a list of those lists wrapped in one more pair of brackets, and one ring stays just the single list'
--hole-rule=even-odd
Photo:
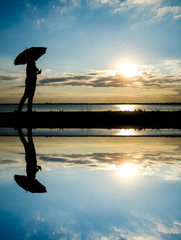
[{"label": "upright dark red umbrella held over the standing person", "polygon": [[31,47],[21,52],[14,60],[15,65],[26,64],[29,58],[37,61],[46,52],[46,47]]}]

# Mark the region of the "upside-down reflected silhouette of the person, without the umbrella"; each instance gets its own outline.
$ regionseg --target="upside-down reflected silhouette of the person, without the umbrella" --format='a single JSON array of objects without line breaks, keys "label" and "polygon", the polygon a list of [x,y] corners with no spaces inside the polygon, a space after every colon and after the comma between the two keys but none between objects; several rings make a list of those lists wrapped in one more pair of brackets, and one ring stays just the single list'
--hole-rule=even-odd
[{"label": "upside-down reflected silhouette of the person, without the umbrella", "polygon": [[41,167],[37,165],[36,151],[32,138],[32,130],[28,129],[28,141],[26,141],[22,129],[19,129],[18,132],[21,142],[23,143],[25,148],[27,177],[32,182],[36,179],[36,173],[41,170]]}]

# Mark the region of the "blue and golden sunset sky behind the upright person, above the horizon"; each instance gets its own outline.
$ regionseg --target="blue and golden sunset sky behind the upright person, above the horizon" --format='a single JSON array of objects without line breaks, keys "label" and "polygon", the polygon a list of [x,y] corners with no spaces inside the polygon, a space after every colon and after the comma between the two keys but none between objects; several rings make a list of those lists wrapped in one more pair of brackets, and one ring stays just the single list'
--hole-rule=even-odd
[{"label": "blue and golden sunset sky behind the upright person, above the horizon", "polygon": [[26,47],[36,103],[181,102],[180,0],[8,0],[0,7],[0,103],[18,103]]}]

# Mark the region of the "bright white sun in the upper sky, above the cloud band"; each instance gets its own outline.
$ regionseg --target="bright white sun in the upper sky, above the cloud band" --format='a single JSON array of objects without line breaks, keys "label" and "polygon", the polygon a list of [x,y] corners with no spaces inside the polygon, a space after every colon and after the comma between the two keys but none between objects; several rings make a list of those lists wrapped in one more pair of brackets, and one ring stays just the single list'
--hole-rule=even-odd
[{"label": "bright white sun in the upper sky, above the cloud band", "polygon": [[138,74],[138,69],[135,64],[131,62],[124,62],[120,64],[119,72],[125,77],[133,77]]}]

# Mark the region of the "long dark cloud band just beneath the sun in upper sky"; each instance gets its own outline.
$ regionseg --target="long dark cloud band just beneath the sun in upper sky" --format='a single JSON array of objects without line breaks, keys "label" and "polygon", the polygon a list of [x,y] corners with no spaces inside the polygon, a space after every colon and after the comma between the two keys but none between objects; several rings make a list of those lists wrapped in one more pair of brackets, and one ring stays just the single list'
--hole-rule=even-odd
[{"label": "long dark cloud band just beneath the sun in upper sky", "polygon": [[83,87],[132,87],[132,88],[179,88],[181,77],[142,73],[136,77],[125,77],[120,73],[91,72],[85,74],[67,74],[56,78],[40,80],[40,85],[83,86]]}]

